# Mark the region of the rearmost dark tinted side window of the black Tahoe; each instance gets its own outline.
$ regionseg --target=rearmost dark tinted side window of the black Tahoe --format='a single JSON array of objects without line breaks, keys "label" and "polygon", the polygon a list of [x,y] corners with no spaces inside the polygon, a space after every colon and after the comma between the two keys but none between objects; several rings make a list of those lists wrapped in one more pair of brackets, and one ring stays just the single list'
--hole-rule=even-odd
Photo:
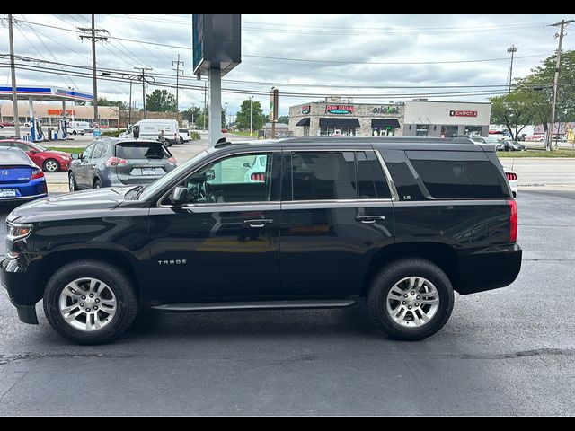
[{"label": "rearmost dark tinted side window of the black Tahoe", "polygon": [[500,172],[484,154],[446,153],[407,152],[432,197],[507,197]]}]

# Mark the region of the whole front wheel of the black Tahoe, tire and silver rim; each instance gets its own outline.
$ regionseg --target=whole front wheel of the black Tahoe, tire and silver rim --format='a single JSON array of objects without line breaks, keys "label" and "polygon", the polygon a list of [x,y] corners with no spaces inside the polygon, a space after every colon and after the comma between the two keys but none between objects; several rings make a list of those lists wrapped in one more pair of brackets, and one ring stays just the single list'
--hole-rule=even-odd
[{"label": "whole front wheel of the black Tahoe, tire and silver rim", "polygon": [[81,344],[119,337],[134,321],[137,297],[129,277],[99,260],[59,268],[44,292],[44,312],[57,332]]}]

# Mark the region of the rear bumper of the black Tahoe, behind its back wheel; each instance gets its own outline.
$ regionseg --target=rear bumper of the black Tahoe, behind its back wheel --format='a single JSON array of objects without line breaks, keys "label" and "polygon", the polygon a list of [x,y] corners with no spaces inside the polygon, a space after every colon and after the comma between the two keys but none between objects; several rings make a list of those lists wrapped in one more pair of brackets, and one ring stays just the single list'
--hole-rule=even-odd
[{"label": "rear bumper of the black Tahoe, behind its back wheel", "polygon": [[459,251],[460,295],[509,286],[521,270],[523,251],[518,244]]}]

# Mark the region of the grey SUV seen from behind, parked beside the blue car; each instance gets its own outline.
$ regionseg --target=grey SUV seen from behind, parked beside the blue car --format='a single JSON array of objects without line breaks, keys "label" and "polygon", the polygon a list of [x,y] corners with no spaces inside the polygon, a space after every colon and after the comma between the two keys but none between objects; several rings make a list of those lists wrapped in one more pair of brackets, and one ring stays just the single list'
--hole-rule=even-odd
[{"label": "grey SUV seen from behind, parked beside the blue car", "polygon": [[117,137],[96,139],[74,157],[68,172],[70,191],[149,184],[177,165],[157,141]]}]

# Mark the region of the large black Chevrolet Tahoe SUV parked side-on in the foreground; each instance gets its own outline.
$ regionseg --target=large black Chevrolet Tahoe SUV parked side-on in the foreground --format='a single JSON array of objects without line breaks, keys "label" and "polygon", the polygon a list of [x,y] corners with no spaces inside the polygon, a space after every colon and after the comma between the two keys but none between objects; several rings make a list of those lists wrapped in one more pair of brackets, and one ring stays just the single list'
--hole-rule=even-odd
[{"label": "large black Chevrolet Tahoe SUV parked side-on in the foreground", "polygon": [[221,143],[149,186],[18,207],[1,264],[20,320],[80,343],[138,310],[345,307],[423,339],[460,295],[521,267],[517,206],[493,145],[467,138]]}]

